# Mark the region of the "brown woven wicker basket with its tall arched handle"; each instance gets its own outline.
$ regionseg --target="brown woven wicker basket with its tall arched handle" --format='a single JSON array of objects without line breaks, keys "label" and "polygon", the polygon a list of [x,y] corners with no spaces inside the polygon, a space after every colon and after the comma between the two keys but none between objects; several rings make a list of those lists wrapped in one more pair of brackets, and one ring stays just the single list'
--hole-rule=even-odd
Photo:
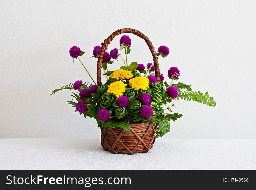
[{"label": "brown woven wicker basket with its tall arched handle", "polygon": [[[98,86],[101,85],[101,64],[102,64],[102,56],[105,51],[108,49],[108,45],[113,40],[113,38],[122,33],[131,33],[141,37],[147,43],[154,60],[155,66],[155,76],[157,77],[157,81],[159,82],[159,64],[157,60],[157,54],[154,49],[154,46],[150,42],[147,36],[145,36],[140,31],[134,30],[132,28],[122,28],[115,32],[113,32],[104,42],[101,43],[101,49],[99,53],[99,58],[97,61],[97,83]],[[127,121],[130,122],[129,120]],[[122,128],[109,128],[105,127],[104,130],[101,129],[101,145],[104,150],[109,150],[112,153],[147,153],[150,148],[152,148],[155,135],[158,129],[159,123],[129,123],[131,126],[131,130],[125,131]]]}]

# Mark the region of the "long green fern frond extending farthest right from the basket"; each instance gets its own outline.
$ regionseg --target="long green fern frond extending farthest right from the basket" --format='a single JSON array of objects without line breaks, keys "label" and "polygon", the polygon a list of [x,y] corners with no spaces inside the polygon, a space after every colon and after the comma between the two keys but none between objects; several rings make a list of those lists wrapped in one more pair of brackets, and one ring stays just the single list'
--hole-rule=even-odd
[{"label": "long green fern frond extending farthest right from the basket", "polygon": [[200,91],[191,91],[191,92],[186,92],[184,90],[181,90],[178,88],[179,91],[179,95],[177,96],[177,100],[179,100],[179,98],[183,99],[183,100],[187,100],[187,101],[197,101],[203,104],[207,104],[209,106],[216,106],[216,102],[214,101],[214,99],[211,97],[209,97],[208,92],[205,93],[205,95],[200,92]]}]

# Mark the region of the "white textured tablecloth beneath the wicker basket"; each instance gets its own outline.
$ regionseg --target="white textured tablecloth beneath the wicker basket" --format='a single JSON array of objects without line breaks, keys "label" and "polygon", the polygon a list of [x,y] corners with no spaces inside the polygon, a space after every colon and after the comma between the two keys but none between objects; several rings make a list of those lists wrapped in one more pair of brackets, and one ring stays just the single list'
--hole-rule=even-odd
[{"label": "white textured tablecloth beneath the wicker basket", "polygon": [[256,139],[156,139],[147,154],[112,154],[99,139],[0,139],[0,169],[256,169]]}]

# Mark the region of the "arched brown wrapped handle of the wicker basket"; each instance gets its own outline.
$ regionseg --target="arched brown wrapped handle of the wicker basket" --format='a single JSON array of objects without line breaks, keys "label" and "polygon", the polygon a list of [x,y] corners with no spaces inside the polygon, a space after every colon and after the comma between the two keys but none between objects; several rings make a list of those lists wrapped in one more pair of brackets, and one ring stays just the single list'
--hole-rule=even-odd
[{"label": "arched brown wrapped handle of the wicker basket", "polygon": [[113,32],[107,39],[104,40],[104,42],[101,43],[101,49],[99,52],[99,57],[98,57],[98,61],[97,61],[97,82],[98,82],[98,86],[101,85],[101,64],[102,64],[102,56],[105,53],[105,51],[108,49],[108,45],[110,44],[110,42],[113,40],[113,38],[119,34],[123,34],[123,33],[131,33],[134,35],[137,35],[138,37],[141,37],[143,40],[145,40],[145,42],[147,43],[152,56],[153,56],[153,60],[154,60],[154,66],[155,66],[155,77],[157,78],[157,82],[159,83],[159,75],[160,75],[160,70],[159,70],[159,63],[158,63],[158,57],[155,51],[154,46],[152,45],[152,42],[150,42],[150,40],[148,39],[147,36],[145,36],[142,32],[132,29],[132,28],[122,28],[122,29],[118,29],[117,31]]}]

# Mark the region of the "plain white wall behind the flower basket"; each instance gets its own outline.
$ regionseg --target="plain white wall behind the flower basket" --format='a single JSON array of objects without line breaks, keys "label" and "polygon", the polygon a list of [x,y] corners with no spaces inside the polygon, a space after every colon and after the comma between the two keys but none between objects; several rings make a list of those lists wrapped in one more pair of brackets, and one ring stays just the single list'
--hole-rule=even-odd
[{"label": "plain white wall behind the flower basket", "polygon": [[[178,101],[175,111],[184,116],[165,137],[255,138],[255,1],[157,2],[2,0],[0,138],[99,138],[96,121],[65,103],[70,90],[49,94],[78,79],[91,82],[79,61],[72,62],[71,46],[86,52],[81,59],[96,78],[93,47],[119,28],[142,31],[155,48],[167,45],[161,72],[177,66],[180,82],[209,91],[217,102]],[[145,42],[129,36],[129,61],[150,62]]]}]

